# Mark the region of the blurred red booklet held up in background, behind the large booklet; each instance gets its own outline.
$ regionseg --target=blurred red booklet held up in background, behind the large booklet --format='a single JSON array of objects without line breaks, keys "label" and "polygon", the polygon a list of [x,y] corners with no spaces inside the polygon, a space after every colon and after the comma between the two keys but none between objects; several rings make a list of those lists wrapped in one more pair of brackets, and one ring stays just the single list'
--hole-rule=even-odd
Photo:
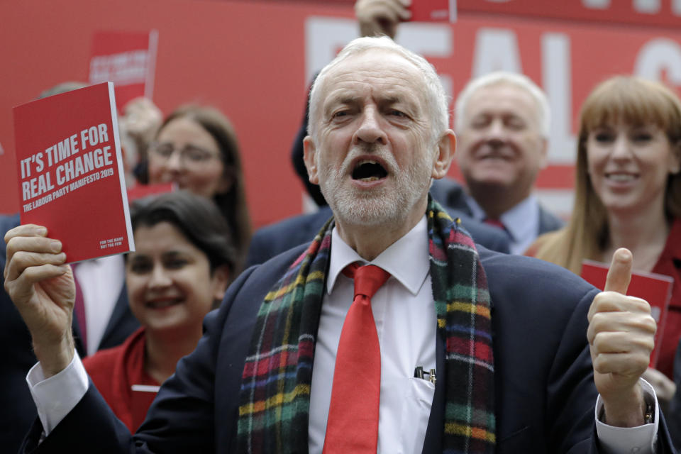
[{"label": "blurred red booklet held up in background, behind the large booklet", "polygon": [[158,32],[128,33],[101,31],[92,38],[91,84],[114,82],[116,104],[123,111],[128,101],[152,99]]}]

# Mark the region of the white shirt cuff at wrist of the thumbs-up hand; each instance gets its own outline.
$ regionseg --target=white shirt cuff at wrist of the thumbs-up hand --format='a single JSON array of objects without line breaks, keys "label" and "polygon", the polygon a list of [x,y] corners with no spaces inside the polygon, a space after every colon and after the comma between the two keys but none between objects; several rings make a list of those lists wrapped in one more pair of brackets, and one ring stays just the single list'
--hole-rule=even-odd
[{"label": "white shirt cuff at wrist of the thumbs-up hand", "polygon": [[643,399],[653,404],[654,419],[650,424],[643,424],[638,427],[614,427],[601,421],[599,415],[603,414],[603,402],[599,395],[596,401],[596,431],[602,450],[605,454],[654,454],[655,441],[658,436],[658,421],[660,421],[660,410],[658,397],[655,389],[646,380],[641,380],[643,389]]}]

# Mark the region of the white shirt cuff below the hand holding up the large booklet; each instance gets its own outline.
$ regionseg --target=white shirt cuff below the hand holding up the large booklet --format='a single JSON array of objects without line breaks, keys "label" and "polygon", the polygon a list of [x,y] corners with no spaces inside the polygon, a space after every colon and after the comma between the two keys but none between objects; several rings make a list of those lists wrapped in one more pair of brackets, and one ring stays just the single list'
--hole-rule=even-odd
[{"label": "white shirt cuff below the hand holding up the large booklet", "polygon": [[26,382],[45,436],[80,402],[89,386],[87,372],[77,352],[64,370],[48,379],[45,379],[43,367],[38,362],[28,371]]}]

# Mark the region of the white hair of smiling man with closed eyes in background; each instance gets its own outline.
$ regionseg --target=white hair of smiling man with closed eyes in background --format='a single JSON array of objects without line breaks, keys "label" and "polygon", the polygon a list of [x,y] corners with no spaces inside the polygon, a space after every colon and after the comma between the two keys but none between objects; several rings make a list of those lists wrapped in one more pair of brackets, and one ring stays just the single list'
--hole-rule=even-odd
[{"label": "white hair of smiling man with closed eyes in background", "polygon": [[456,131],[461,131],[464,126],[465,112],[470,96],[477,92],[477,90],[491,87],[499,84],[511,84],[521,89],[524,89],[532,96],[536,103],[536,115],[540,127],[541,135],[548,139],[550,128],[550,108],[548,106],[548,99],[541,88],[537,86],[532,80],[524,74],[516,74],[515,72],[496,71],[485,74],[484,76],[476,77],[463,87],[461,93],[456,99],[454,118]]}]

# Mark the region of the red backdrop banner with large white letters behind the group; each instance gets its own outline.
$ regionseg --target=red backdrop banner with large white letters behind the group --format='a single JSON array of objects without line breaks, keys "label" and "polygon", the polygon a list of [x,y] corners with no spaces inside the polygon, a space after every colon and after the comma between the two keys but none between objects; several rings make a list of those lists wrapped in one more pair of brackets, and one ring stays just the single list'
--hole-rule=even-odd
[{"label": "red backdrop banner with large white letters behind the group", "polygon": [[[500,69],[524,72],[546,90],[553,122],[550,165],[538,179],[539,195],[550,208],[567,214],[575,118],[583,99],[594,84],[621,73],[663,79],[678,90],[681,32],[504,16],[502,10],[480,14],[482,6],[470,11],[470,3],[458,1],[456,23],[404,24],[397,40],[433,62],[452,96],[470,77]],[[475,3],[490,8],[495,4]],[[542,3],[509,0],[497,5],[524,14],[521,6]],[[585,19],[575,16],[582,11],[575,5],[572,12],[553,16]],[[663,1],[663,8],[671,8],[669,0]],[[231,118],[243,153],[254,226],[303,209],[304,189],[290,163],[291,143],[304,114],[311,75],[358,34],[351,4],[26,0],[4,2],[0,15],[0,144],[5,152],[0,155],[1,212],[18,209],[16,182],[7,171],[15,168],[11,108],[59,82],[87,81],[93,36],[104,30],[158,32],[154,101],[165,114],[194,102],[214,105]],[[458,176],[455,167],[450,174]]]}]

